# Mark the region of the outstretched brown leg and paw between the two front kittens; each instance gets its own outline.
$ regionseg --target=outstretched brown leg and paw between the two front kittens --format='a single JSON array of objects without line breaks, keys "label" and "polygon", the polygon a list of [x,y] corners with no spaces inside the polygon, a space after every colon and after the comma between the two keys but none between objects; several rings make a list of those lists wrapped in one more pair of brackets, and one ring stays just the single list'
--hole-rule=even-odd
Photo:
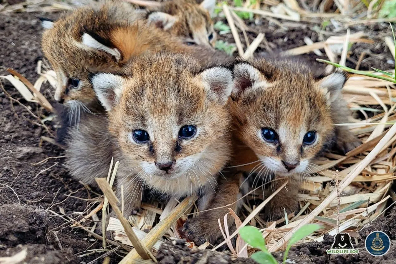
[{"label": "outstretched brown leg and paw between the two front kittens", "polygon": [[[240,203],[235,203],[235,201],[240,198],[240,175],[227,177],[227,180],[224,178],[219,179],[219,191],[211,199],[208,209],[222,208],[201,212],[196,218],[188,219],[185,222],[181,231],[190,241],[193,241],[196,245],[202,245],[206,241],[214,245],[223,240],[218,219],[220,219],[221,225],[224,226],[224,215],[230,212],[228,208],[238,213]],[[226,207],[226,205],[229,206]],[[233,223],[234,218],[227,216],[229,228]]]}]

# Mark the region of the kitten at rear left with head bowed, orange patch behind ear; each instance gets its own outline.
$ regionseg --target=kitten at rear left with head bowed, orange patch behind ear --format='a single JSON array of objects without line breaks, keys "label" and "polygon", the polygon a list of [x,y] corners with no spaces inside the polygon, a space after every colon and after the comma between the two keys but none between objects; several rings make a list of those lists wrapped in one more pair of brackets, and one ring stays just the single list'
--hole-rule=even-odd
[{"label": "kitten at rear left with head bowed, orange patch behind ear", "polygon": [[[58,79],[55,100],[69,105],[70,113],[77,112],[73,108],[97,112],[100,106],[88,72],[120,71],[131,57],[147,52],[189,53],[202,61],[228,58],[208,46],[188,46],[173,33],[158,28],[158,23],[148,23],[146,15],[126,3],[106,2],[98,7],[78,8],[55,22],[43,19],[47,30],[42,49]],[[150,15],[148,18],[155,21]],[[183,25],[178,23],[177,27]]]}]

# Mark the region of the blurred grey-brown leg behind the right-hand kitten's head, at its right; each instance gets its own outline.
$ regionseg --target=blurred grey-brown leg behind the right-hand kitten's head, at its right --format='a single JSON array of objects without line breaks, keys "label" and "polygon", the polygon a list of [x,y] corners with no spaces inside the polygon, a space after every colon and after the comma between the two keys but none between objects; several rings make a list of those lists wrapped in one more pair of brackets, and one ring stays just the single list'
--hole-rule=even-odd
[{"label": "blurred grey-brown leg behind the right-hand kitten's head, at its right", "polygon": [[[341,96],[331,103],[331,114],[335,124],[350,122],[348,120],[348,117],[350,117],[348,105]],[[335,146],[344,154],[362,144],[362,142],[349,131],[347,126],[335,126],[335,134]]]}]

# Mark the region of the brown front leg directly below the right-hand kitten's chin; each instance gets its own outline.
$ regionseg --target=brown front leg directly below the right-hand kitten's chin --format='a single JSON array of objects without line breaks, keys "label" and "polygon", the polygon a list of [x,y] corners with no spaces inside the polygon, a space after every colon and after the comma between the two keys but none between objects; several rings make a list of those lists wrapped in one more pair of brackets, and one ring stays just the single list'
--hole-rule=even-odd
[{"label": "brown front leg directly below the right-hand kitten's chin", "polygon": [[284,210],[289,214],[299,209],[297,195],[299,191],[299,180],[294,177],[276,179],[272,184],[272,191],[278,189],[285,181],[289,182],[282,188],[264,207],[266,219],[275,221],[285,216]]}]

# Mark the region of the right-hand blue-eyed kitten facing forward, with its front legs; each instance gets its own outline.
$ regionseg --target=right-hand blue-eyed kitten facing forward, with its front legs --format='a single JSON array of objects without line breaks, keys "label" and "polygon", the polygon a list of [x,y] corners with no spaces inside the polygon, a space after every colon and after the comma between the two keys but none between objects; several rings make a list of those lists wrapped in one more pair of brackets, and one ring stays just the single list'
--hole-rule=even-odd
[{"label": "right-hand blue-eyed kitten facing forward, with its front legs", "polygon": [[[246,175],[252,172],[251,178],[261,177],[264,182],[289,179],[286,188],[264,209],[268,220],[278,220],[284,216],[284,209],[287,213],[298,209],[299,180],[310,173],[312,159],[332,145],[343,152],[360,145],[345,126],[334,126],[348,122],[350,115],[341,95],[347,75],[335,72],[317,77],[307,64],[292,58],[239,59],[234,64],[233,75],[231,165],[251,163],[235,169],[247,172]],[[232,187],[237,182],[223,188],[238,190]],[[282,179],[276,180],[271,185],[272,191],[283,183]],[[252,188],[249,186],[249,190]],[[211,208],[231,204],[238,197],[237,192],[230,191],[223,195],[221,189],[216,195],[219,197],[214,201],[221,200],[223,204],[216,203]],[[222,219],[226,209],[208,211],[188,220],[185,234],[198,245],[205,241],[220,242],[223,240],[220,230],[209,226],[218,226],[217,218]]]}]

